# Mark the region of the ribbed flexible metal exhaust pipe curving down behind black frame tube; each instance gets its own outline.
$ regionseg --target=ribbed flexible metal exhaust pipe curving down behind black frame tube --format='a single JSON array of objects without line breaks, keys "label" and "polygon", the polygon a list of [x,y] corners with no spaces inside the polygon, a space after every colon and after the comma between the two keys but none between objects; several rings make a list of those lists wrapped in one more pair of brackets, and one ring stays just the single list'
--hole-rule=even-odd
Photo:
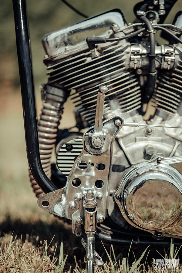
[{"label": "ribbed flexible metal exhaust pipe curving down behind black frame tube", "polygon": [[[50,94],[47,94],[50,97]],[[51,178],[51,154],[55,147],[57,130],[59,126],[59,121],[63,113],[63,104],[66,99],[56,96],[52,96],[54,99],[46,99],[43,103],[42,113],[38,121],[38,136],[39,136],[39,152],[40,159],[42,163],[42,168],[47,177]],[[57,99],[56,99],[57,98]],[[62,100],[62,102],[61,102]],[[53,102],[53,103],[52,103]],[[54,104],[54,105],[52,105]],[[31,172],[29,174],[30,182],[32,184],[33,191],[38,198],[43,193],[42,189],[36,183]]]}]

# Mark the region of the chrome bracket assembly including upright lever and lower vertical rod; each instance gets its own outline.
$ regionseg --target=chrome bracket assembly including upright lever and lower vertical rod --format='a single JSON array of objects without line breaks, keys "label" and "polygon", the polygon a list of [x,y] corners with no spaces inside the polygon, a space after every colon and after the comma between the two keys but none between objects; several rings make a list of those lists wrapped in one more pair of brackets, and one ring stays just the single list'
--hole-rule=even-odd
[{"label": "chrome bracket assembly including upright lever and lower vertical rod", "polygon": [[94,236],[97,223],[106,218],[109,205],[113,142],[123,126],[121,116],[103,122],[104,96],[107,86],[99,87],[95,126],[83,135],[83,150],[77,157],[64,188],[42,195],[39,207],[72,220],[72,232],[87,237],[86,268],[94,272],[94,264],[101,265],[95,255]]}]

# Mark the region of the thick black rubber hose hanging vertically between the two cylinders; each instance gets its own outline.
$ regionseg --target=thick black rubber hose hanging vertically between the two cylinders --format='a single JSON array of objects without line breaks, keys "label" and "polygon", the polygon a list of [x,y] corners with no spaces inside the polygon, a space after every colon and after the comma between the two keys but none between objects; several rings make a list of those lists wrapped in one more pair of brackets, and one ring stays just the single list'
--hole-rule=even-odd
[{"label": "thick black rubber hose hanging vertically between the two cylinders", "polygon": [[143,103],[148,103],[152,97],[155,82],[156,82],[156,69],[155,69],[155,30],[150,20],[147,19],[144,15],[139,17],[140,21],[145,23],[149,32],[150,39],[150,54],[149,54],[149,75],[148,75],[148,84],[146,93],[143,96]]}]

